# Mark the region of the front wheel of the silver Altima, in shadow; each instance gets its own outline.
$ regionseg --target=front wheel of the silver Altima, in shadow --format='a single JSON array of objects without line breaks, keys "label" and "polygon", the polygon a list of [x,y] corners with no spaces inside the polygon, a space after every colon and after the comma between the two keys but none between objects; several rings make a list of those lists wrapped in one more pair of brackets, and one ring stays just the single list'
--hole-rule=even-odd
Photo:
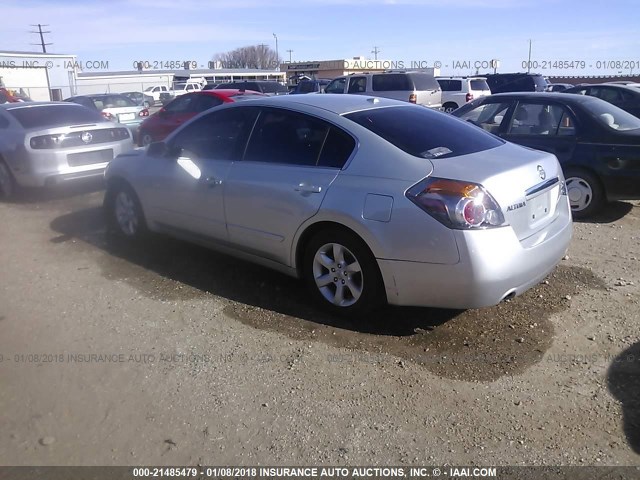
[{"label": "front wheel of the silver Altima, in shadow", "polygon": [[104,210],[108,233],[130,241],[138,241],[147,233],[147,223],[136,192],[124,181],[107,187]]}]

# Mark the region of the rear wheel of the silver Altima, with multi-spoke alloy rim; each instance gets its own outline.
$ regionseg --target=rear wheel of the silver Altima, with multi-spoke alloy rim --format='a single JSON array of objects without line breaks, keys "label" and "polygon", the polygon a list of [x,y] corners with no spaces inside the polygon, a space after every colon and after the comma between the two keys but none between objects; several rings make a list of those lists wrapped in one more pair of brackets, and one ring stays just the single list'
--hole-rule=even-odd
[{"label": "rear wheel of the silver Altima, with multi-spoke alloy rim", "polygon": [[375,257],[347,230],[331,228],[311,238],[303,276],[314,300],[336,315],[361,317],[386,302]]}]

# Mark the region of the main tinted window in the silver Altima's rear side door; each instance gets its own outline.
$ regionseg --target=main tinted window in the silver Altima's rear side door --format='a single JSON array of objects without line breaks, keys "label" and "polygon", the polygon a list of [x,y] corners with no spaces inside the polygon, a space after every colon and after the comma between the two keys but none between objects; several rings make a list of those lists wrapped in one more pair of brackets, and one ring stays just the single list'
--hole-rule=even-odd
[{"label": "main tinted window in the silver Altima's rear side door", "polygon": [[316,165],[329,125],[301,113],[263,109],[244,159],[254,162]]}]

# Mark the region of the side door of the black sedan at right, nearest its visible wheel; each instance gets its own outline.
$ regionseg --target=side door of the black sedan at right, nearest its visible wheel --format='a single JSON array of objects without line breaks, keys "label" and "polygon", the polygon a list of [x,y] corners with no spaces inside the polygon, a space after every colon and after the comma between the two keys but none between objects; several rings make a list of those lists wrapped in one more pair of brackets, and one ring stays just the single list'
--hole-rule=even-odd
[{"label": "side door of the black sedan at right, nearest its visible wheel", "polygon": [[536,150],[553,153],[569,162],[576,148],[575,117],[564,106],[539,100],[519,101],[502,138]]}]

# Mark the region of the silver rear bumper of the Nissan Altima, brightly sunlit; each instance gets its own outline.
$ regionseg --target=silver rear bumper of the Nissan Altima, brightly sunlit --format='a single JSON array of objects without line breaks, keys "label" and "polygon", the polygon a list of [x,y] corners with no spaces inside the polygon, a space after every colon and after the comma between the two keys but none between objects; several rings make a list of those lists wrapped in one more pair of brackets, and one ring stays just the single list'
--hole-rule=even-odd
[{"label": "silver rear bumper of the Nissan Altima, brightly sunlit", "polygon": [[522,242],[509,227],[454,233],[460,252],[455,265],[378,259],[389,303],[466,309],[520,295],[564,256],[572,235],[571,213],[561,209],[543,231]]}]

